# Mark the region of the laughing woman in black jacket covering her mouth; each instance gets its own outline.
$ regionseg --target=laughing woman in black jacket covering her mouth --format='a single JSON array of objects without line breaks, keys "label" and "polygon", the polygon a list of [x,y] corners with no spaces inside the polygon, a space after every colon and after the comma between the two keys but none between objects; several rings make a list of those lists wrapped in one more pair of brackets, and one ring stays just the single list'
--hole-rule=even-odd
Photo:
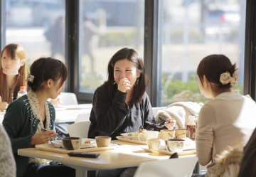
[{"label": "laughing woman in black jacket covering her mouth", "polygon": [[[89,137],[116,139],[121,133],[154,129],[154,114],[146,94],[148,82],[143,60],[134,49],[122,48],[114,53],[108,64],[108,80],[93,96]],[[174,124],[174,119],[166,119],[167,128],[173,129]],[[99,176],[119,176],[122,169],[109,172]]]}]

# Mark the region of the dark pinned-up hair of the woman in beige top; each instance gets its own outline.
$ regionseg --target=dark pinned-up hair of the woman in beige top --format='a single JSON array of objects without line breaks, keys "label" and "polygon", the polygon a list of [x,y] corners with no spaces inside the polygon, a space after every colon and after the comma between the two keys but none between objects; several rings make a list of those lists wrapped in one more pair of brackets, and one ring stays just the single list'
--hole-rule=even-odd
[{"label": "dark pinned-up hair of the woman in beige top", "polygon": [[208,81],[213,82],[216,87],[220,89],[232,87],[230,83],[223,85],[220,82],[220,75],[225,72],[229,72],[231,76],[237,70],[235,64],[232,65],[230,59],[225,55],[208,55],[201,60],[197,68],[197,75],[203,82],[203,75],[206,75]]}]

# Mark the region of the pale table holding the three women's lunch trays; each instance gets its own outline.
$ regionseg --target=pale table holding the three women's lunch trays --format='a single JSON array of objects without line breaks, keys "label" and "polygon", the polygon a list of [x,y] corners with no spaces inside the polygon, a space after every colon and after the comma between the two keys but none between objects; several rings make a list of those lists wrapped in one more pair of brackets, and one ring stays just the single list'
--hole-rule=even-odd
[{"label": "pale table holding the three women's lunch trays", "polygon": [[[115,141],[114,143],[119,144],[118,142]],[[18,155],[60,161],[67,166],[75,168],[76,177],[87,176],[87,170],[127,168],[139,166],[140,163],[145,161],[169,159],[168,155],[146,153],[142,149],[146,148],[146,145],[124,144],[123,142],[121,144],[114,146],[113,150],[97,151],[100,153],[97,159],[70,157],[67,154],[41,151],[36,148],[18,149]],[[186,157],[188,156],[183,156],[183,158]]]}]

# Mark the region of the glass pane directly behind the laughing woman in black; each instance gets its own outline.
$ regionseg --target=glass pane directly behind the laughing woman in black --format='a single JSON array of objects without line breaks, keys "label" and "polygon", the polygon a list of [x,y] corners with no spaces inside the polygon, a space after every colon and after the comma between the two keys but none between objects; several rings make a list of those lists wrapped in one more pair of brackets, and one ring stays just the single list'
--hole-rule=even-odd
[{"label": "glass pane directly behind the laughing woman in black", "polygon": [[93,92],[107,80],[107,64],[117,50],[144,53],[144,0],[82,1],[80,92]]}]

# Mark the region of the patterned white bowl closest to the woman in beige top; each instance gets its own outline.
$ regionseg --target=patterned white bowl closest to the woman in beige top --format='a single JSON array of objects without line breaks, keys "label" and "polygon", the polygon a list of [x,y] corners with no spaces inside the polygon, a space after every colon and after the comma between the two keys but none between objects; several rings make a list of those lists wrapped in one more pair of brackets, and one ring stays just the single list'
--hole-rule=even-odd
[{"label": "patterned white bowl closest to the woman in beige top", "polygon": [[184,139],[168,139],[166,140],[166,149],[171,152],[183,151],[185,146]]}]

